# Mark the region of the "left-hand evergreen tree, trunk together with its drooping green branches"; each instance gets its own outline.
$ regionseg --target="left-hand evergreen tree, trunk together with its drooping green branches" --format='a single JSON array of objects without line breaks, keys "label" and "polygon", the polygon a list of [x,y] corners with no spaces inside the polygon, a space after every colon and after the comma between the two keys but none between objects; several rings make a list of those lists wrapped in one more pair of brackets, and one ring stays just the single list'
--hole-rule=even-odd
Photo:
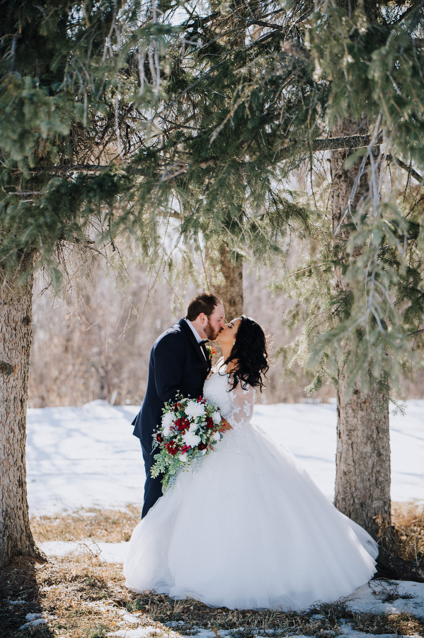
[{"label": "left-hand evergreen tree, trunk together with its drooping green branches", "polygon": [[58,286],[66,247],[95,252],[109,242],[113,250],[113,206],[122,211],[130,184],[119,167],[133,145],[145,145],[172,29],[154,2],[24,0],[1,9],[3,565],[38,555],[25,481],[33,272],[44,267]]}]

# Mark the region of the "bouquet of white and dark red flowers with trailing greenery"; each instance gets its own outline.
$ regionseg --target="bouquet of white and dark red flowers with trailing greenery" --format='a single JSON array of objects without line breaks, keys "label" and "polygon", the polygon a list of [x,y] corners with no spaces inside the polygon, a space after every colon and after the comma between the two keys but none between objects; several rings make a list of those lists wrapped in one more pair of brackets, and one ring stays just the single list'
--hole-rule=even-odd
[{"label": "bouquet of white and dark red flowers with trailing greenery", "polygon": [[153,449],[159,448],[159,452],[154,455],[150,474],[153,478],[164,474],[162,485],[166,489],[178,471],[213,450],[222,434],[219,410],[205,398],[178,395],[175,401],[165,403],[163,412],[161,427],[153,435]]}]

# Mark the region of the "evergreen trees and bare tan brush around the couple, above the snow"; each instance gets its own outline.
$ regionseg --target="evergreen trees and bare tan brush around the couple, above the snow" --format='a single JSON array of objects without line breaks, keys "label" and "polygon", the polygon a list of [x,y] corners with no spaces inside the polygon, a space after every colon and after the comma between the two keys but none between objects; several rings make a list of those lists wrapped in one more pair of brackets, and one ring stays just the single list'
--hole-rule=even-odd
[{"label": "evergreen trees and bare tan brush around the couple, above the snow", "polygon": [[[31,343],[30,405],[139,403],[204,287],[274,335],[266,401],[331,379],[335,505],[391,548],[389,401],[424,349],[424,3],[3,5],[0,564],[38,556]],[[280,380],[290,360],[311,377]]]}]

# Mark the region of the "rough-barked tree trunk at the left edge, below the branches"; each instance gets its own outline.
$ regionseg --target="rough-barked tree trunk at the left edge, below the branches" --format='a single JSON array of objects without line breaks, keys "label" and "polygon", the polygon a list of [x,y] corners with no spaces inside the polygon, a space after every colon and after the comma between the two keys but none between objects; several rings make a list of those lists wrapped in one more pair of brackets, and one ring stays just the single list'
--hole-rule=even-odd
[{"label": "rough-barked tree trunk at the left edge, below the branches", "polygon": [[0,567],[40,554],[30,531],[26,493],[26,408],[32,339],[33,278],[2,279],[0,297]]}]

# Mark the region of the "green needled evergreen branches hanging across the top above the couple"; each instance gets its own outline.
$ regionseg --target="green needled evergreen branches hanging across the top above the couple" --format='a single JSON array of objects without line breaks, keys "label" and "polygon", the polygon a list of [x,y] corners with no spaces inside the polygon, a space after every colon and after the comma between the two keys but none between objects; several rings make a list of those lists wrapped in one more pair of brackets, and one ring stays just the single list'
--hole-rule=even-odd
[{"label": "green needled evergreen branches hanging across the top above the couple", "polygon": [[[409,189],[423,164],[420,4],[365,2],[350,15],[331,3],[211,1],[202,13],[187,3],[181,35],[168,40],[171,62],[149,49],[171,29],[155,20],[140,27],[141,4],[130,11],[107,2],[61,6],[46,3],[43,13],[10,4],[1,40],[7,281],[20,268],[30,273],[36,256],[56,276],[57,248],[94,241],[93,226],[111,242],[130,233],[161,259],[183,237],[200,254],[229,254],[235,264],[236,255],[262,263],[285,257],[290,237],[314,233],[320,251],[299,286],[308,308],[301,349],[315,354],[314,387],[326,375],[338,385],[343,374],[343,408],[356,384],[366,394],[372,379],[396,382],[399,350],[412,352],[409,333],[420,335],[423,311],[421,204]],[[22,7],[36,15],[24,19]],[[130,18],[134,37],[122,30]],[[35,38],[38,55],[28,56],[20,47]],[[365,119],[366,130],[345,130],[349,118]],[[290,176],[304,166],[314,171],[317,152],[339,149],[355,151],[343,168],[355,180],[345,189],[347,205],[340,198],[336,213],[334,204],[340,225],[333,233],[325,206],[299,204]],[[395,177],[406,167],[404,196],[389,184],[394,166]],[[333,285],[335,272],[343,285]],[[24,323],[21,315],[16,321]],[[14,421],[13,432],[19,427]],[[376,459],[371,431],[363,432],[356,454],[368,448]],[[372,470],[384,476],[387,461]],[[376,503],[388,523],[387,497],[364,491],[368,478],[343,507],[365,512],[375,535],[373,510],[364,505]],[[348,485],[352,477],[338,480]],[[19,551],[28,547],[15,544]]]}]

